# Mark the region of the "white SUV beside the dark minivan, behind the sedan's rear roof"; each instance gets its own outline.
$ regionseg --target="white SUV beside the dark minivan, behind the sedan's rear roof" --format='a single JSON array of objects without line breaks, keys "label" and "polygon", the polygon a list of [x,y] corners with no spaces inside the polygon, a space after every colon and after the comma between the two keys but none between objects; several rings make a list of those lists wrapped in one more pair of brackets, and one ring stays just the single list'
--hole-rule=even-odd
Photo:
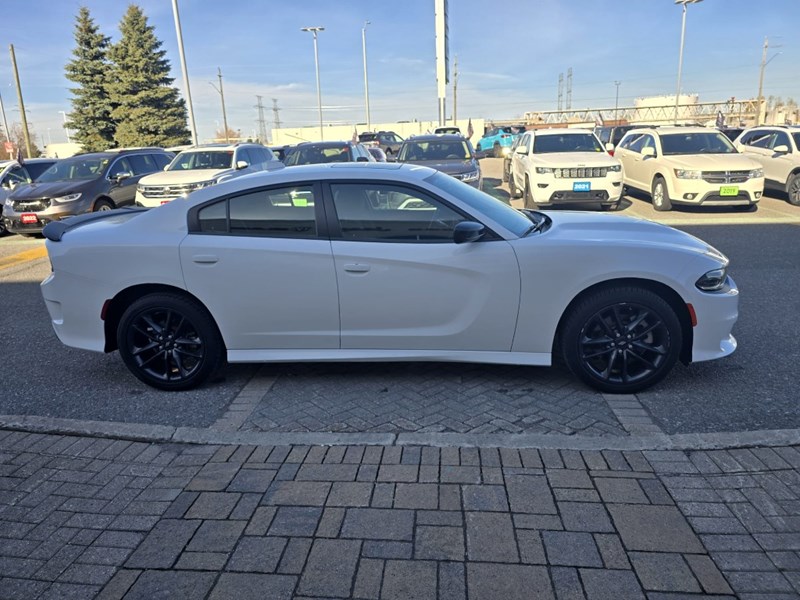
[{"label": "white SUV beside the dark minivan, behind the sedan's rear roof", "polygon": [[183,150],[163,171],[139,180],[136,205],[154,207],[233,177],[283,168],[260,144],[207,144]]}]

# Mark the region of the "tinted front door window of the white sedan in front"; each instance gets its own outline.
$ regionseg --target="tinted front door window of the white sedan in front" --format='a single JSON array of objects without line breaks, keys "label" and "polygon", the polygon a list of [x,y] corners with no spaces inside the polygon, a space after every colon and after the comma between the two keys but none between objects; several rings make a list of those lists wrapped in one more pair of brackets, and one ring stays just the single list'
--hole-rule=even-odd
[{"label": "tinted front door window of the white sedan in front", "polygon": [[342,238],[361,242],[453,242],[465,218],[428,194],[387,183],[333,183]]}]

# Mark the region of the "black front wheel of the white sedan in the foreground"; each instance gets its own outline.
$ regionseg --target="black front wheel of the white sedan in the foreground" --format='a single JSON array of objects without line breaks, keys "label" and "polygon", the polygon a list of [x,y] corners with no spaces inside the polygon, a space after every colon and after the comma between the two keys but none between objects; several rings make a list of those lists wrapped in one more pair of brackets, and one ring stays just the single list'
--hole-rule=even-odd
[{"label": "black front wheel of the white sedan in the foreground", "polygon": [[634,286],[607,288],[580,300],[560,337],[570,371],[611,394],[633,394],[661,381],[678,360],[682,343],[673,308]]}]

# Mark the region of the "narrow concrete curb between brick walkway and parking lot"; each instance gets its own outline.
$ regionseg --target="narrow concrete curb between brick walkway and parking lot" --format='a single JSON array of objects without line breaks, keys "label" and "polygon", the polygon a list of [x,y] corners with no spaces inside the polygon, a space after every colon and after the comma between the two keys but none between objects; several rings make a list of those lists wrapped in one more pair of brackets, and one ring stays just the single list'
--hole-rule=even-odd
[{"label": "narrow concrete curb between brick walkway and parking lot", "polygon": [[253,446],[462,446],[553,450],[714,450],[800,445],[800,429],[722,433],[570,436],[559,434],[337,433],[217,431],[113,421],[0,415],[0,429],[139,442]]}]

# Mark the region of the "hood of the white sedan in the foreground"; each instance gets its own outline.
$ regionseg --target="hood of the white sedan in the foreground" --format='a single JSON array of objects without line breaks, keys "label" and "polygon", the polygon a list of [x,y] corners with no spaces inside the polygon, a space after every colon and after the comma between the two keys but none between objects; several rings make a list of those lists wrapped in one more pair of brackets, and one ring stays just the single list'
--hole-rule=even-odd
[{"label": "hood of the white sedan in the foreground", "polygon": [[671,246],[727,261],[722,253],[703,240],[646,219],[578,211],[546,211],[545,214],[553,220],[547,233],[569,243]]}]

